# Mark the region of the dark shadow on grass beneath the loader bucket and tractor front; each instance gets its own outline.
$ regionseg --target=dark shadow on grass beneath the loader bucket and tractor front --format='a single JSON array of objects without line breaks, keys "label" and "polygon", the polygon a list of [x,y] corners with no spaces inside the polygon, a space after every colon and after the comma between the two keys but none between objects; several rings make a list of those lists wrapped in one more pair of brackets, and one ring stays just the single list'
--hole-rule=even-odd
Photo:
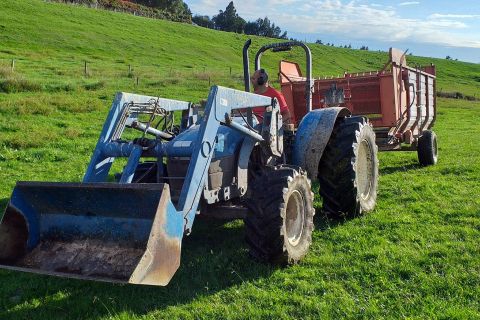
[{"label": "dark shadow on grass beneath the loader bucket and tractor front", "polygon": [[[1,203],[6,204],[6,200]],[[119,285],[0,271],[0,319],[99,319],[143,316],[268,277],[274,267],[254,263],[239,221],[197,219],[185,237],[180,268],[167,287]]]}]

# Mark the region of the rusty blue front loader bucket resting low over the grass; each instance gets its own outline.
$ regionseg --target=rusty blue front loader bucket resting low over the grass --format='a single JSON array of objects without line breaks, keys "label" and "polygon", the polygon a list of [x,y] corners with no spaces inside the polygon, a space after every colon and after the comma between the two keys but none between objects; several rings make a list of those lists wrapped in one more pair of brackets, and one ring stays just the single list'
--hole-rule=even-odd
[{"label": "rusty blue front loader bucket resting low over the grass", "polygon": [[183,225],[168,184],[19,182],[0,224],[0,268],[166,285]]}]

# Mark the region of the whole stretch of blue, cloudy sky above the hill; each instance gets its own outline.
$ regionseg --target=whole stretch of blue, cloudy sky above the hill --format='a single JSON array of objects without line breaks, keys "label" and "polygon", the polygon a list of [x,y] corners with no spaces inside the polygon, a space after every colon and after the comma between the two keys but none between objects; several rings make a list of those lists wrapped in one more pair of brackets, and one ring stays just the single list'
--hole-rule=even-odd
[{"label": "whole stretch of blue, cloudy sky above the hill", "polygon": [[[186,0],[213,16],[230,0]],[[414,55],[480,63],[480,0],[234,0],[244,19],[268,18],[289,37],[370,50],[396,47]]]}]

